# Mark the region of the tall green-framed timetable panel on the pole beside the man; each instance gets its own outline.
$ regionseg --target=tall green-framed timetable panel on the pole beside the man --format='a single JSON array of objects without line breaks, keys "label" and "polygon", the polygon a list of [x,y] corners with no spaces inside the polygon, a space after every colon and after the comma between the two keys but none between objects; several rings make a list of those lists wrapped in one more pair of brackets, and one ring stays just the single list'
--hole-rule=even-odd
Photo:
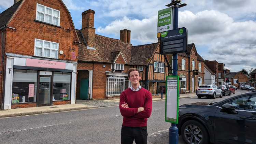
[{"label": "tall green-framed timetable panel on the pole beside the man", "polygon": [[178,124],[179,76],[166,76],[165,121]]}]

